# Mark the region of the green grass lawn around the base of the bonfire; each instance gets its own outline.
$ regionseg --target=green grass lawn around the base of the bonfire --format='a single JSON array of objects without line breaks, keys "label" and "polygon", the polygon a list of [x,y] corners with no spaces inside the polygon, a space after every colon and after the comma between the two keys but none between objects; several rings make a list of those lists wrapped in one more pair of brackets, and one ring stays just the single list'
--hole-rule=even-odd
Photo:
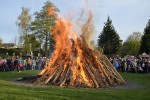
[{"label": "green grass lawn around the base of the bonfire", "polygon": [[125,80],[143,85],[136,89],[87,89],[20,85],[10,79],[39,71],[0,72],[0,100],[150,100],[150,75],[122,73]]}]

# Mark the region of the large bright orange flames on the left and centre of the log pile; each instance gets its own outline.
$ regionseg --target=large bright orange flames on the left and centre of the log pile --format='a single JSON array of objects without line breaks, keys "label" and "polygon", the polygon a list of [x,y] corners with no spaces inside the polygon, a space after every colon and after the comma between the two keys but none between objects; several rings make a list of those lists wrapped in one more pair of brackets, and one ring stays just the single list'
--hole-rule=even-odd
[{"label": "large bright orange flames on the left and centre of the log pile", "polygon": [[[86,77],[85,72],[83,70],[82,63],[81,63],[83,59],[83,54],[79,46],[81,44],[80,42],[78,42],[81,40],[77,37],[76,33],[73,32],[71,22],[66,21],[62,18],[59,18],[51,34],[54,35],[55,37],[56,46],[55,46],[55,51],[52,55],[52,58],[50,62],[48,63],[48,68],[46,69],[51,69],[51,71],[53,71],[52,70],[54,67],[53,65],[56,62],[56,60],[63,57],[63,61],[57,61],[57,62],[65,63],[64,69],[66,68],[68,63],[72,63],[70,65],[76,65],[76,66],[69,67],[69,69],[72,72],[72,80],[71,80],[72,82],[70,82],[70,84],[74,85],[74,82],[76,81],[78,83],[85,82],[88,86],[90,86],[90,79],[88,80],[88,78]],[[74,38],[69,38],[70,35],[74,36]],[[71,40],[74,42],[72,42]],[[77,55],[72,54],[72,52],[75,52],[75,51],[72,51],[72,45],[75,45]],[[70,59],[70,62],[65,61],[68,59]],[[80,71],[78,71],[79,69]],[[45,70],[42,71],[40,75],[42,75],[44,72]]]}]

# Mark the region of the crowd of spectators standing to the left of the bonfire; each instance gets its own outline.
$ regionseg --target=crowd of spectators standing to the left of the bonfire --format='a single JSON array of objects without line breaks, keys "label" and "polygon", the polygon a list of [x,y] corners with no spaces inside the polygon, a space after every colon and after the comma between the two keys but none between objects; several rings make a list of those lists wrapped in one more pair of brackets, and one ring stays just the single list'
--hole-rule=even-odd
[{"label": "crowd of spectators standing to the left of the bonfire", "polygon": [[42,70],[45,57],[0,57],[0,71]]}]

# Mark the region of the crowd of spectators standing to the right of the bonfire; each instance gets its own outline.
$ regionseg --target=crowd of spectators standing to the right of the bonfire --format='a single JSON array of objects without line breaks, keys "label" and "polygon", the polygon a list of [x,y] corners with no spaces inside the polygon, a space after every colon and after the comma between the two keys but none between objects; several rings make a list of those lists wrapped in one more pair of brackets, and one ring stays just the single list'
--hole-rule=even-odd
[{"label": "crowd of spectators standing to the right of the bonfire", "polygon": [[150,59],[149,58],[110,58],[115,69],[122,72],[133,73],[148,73],[150,74]]}]

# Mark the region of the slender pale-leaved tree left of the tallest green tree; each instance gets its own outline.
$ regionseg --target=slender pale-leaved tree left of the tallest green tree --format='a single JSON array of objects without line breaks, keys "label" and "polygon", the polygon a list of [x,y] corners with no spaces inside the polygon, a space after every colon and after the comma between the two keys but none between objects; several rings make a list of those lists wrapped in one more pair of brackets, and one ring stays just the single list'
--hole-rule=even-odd
[{"label": "slender pale-leaved tree left of the tallest green tree", "polygon": [[17,25],[19,26],[19,43],[20,45],[23,45],[23,51],[25,53],[31,53],[30,52],[30,45],[29,45],[29,26],[31,23],[31,15],[29,14],[30,10],[28,8],[22,7],[22,12],[18,16]]}]

